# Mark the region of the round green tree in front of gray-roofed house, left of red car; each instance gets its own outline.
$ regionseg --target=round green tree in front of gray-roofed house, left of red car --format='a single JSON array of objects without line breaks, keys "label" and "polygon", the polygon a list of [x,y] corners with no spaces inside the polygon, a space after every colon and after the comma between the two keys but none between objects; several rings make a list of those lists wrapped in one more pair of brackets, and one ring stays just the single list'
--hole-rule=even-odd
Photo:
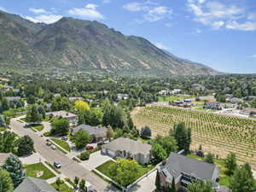
[{"label": "round green tree in front of gray-roofed house, left of red car", "polygon": [[91,137],[87,131],[79,130],[75,133],[73,137],[73,143],[75,143],[76,148],[84,148],[88,143],[91,142]]}]

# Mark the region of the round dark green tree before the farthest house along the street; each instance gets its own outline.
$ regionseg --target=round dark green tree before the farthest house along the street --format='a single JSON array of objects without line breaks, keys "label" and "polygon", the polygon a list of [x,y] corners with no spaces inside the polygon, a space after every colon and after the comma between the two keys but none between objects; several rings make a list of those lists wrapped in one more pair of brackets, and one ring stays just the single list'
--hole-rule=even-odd
[{"label": "round dark green tree before the farthest house along the street", "polygon": [[69,131],[69,122],[65,118],[55,118],[51,122],[52,128],[50,130],[52,135],[55,136],[67,136]]}]

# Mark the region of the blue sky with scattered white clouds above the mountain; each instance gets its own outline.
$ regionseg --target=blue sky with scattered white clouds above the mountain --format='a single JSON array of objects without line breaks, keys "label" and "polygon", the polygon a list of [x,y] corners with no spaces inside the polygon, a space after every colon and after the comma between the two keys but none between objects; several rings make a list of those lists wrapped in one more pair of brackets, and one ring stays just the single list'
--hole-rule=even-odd
[{"label": "blue sky with scattered white clouds above the mountain", "polygon": [[254,0],[8,0],[0,9],[34,22],[99,20],[219,71],[256,73]]}]

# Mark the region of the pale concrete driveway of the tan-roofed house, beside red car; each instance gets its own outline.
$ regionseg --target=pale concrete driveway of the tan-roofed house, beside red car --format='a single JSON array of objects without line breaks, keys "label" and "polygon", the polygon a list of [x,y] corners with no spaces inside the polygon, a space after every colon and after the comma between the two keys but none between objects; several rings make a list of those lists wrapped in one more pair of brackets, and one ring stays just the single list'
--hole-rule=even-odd
[{"label": "pale concrete driveway of the tan-roofed house, beside red car", "polygon": [[97,166],[101,166],[103,163],[108,160],[112,160],[108,155],[102,155],[101,151],[97,151],[93,154],[90,154],[89,160],[82,161],[81,165],[86,167],[89,171],[95,169]]}]

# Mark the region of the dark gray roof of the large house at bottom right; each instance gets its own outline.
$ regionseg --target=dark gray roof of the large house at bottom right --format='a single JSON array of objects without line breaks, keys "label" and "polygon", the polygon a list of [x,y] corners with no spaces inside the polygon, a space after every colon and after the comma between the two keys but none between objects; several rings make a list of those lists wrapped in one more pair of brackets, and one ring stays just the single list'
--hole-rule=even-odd
[{"label": "dark gray roof of the large house at bottom right", "polygon": [[186,173],[191,176],[212,180],[212,176],[217,166],[209,164],[205,161],[195,160],[182,154],[171,153],[166,160],[166,165],[160,166],[160,170],[165,173],[166,177],[180,177],[181,173]]}]

